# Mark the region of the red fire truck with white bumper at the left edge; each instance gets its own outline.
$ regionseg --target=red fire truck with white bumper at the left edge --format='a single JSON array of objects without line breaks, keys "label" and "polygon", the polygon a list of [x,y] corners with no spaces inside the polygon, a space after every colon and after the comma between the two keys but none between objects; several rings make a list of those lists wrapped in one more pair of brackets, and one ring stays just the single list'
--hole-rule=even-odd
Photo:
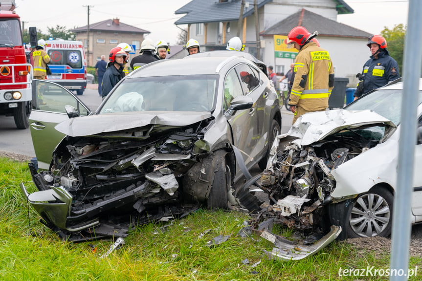
[{"label": "red fire truck with white bumper at the left edge", "polygon": [[22,41],[15,1],[0,0],[0,115],[13,116],[18,129],[27,129],[33,70]]}]

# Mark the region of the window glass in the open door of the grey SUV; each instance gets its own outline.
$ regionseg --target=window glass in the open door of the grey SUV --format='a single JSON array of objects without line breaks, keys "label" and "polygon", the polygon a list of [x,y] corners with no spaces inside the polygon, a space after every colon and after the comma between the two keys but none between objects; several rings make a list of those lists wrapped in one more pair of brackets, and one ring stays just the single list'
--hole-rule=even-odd
[{"label": "window glass in the open door of the grey SUV", "polygon": [[78,109],[79,114],[88,115],[87,109],[62,86],[45,81],[34,82],[33,109],[66,114],[65,106],[69,105]]}]

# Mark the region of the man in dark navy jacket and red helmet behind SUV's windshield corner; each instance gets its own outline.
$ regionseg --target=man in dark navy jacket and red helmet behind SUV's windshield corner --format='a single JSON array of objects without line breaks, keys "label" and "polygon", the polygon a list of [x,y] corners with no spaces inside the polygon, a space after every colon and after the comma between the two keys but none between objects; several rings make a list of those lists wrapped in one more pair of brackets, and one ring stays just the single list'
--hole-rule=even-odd
[{"label": "man in dark navy jacket and red helmet behind SUV's windshield corner", "polygon": [[109,64],[103,76],[101,86],[101,96],[104,98],[110,93],[111,89],[125,77],[123,65],[126,60],[126,52],[121,47],[112,48],[109,55]]}]

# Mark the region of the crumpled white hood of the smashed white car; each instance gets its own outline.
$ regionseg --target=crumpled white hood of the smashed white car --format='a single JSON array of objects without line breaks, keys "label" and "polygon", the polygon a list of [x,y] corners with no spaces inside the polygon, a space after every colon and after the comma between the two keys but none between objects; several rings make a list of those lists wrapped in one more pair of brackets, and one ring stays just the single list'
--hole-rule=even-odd
[{"label": "crumpled white hood of the smashed white car", "polygon": [[310,112],[300,116],[290,130],[280,138],[297,137],[301,139],[298,144],[306,146],[346,128],[376,124],[386,126],[386,131],[396,128],[392,121],[372,110],[336,109]]}]

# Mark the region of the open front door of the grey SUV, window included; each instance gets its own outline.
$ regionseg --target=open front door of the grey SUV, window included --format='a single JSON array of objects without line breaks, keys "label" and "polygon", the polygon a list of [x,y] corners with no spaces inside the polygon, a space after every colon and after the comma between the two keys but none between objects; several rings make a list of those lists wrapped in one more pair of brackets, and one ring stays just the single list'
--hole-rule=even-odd
[{"label": "open front door of the grey SUV, window included", "polygon": [[32,81],[29,125],[40,169],[48,169],[54,148],[65,136],[54,126],[69,118],[66,105],[76,108],[82,116],[90,113],[89,108],[63,86],[45,80]]}]

